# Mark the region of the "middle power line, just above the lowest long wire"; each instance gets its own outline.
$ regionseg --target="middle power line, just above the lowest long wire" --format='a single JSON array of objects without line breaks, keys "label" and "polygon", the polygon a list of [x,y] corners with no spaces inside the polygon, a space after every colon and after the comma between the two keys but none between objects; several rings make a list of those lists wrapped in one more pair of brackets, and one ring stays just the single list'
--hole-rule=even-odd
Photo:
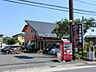
[{"label": "middle power line, just above the lowest long wire", "polygon": [[[44,5],[44,6],[51,6],[51,7],[69,9],[68,7],[64,7],[64,6],[50,5],[50,4],[39,3],[39,2],[35,2],[35,1],[28,1],[28,0],[19,0],[19,1],[27,2],[27,3],[33,3],[33,4],[39,4],[39,5]],[[88,12],[88,13],[96,13],[95,11],[82,10],[82,9],[74,9],[74,10],[81,11],[81,12]]]}]

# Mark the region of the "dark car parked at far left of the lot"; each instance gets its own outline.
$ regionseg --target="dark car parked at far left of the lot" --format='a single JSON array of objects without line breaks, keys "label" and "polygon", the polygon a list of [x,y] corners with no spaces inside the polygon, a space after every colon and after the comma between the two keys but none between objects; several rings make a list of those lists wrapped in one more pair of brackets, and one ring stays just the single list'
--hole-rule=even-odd
[{"label": "dark car parked at far left of the lot", "polygon": [[1,49],[1,52],[3,52],[4,54],[20,53],[21,47],[20,46],[7,46]]}]

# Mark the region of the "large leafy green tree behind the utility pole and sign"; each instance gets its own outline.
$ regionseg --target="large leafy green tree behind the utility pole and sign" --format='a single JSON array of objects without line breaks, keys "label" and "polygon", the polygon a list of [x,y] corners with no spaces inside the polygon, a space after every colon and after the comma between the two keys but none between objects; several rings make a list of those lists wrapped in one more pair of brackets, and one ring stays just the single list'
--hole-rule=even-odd
[{"label": "large leafy green tree behind the utility pole and sign", "polygon": [[[84,34],[87,32],[87,30],[91,27],[96,27],[96,20],[94,18],[86,19],[82,17],[82,19],[76,19],[74,20],[74,24],[84,24]],[[54,32],[56,33],[57,37],[62,38],[66,35],[69,35],[69,21],[67,19],[64,19],[64,21],[58,21],[56,22],[57,26],[54,29]]]}]

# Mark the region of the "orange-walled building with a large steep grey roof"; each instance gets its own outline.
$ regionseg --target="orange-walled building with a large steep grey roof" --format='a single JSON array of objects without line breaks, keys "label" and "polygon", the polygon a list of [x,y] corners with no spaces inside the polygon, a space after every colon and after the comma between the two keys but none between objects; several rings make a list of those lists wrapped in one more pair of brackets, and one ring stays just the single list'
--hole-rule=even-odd
[{"label": "orange-walled building with a large steep grey roof", "polygon": [[49,44],[62,42],[56,37],[53,30],[56,27],[54,23],[25,20],[27,25],[22,32],[25,34],[25,43],[31,42],[34,48],[43,49]]}]

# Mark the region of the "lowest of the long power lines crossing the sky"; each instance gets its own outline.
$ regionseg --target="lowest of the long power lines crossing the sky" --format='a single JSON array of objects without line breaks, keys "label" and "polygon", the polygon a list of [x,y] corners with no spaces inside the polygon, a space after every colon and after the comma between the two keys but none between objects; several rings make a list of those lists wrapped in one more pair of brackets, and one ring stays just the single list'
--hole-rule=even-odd
[{"label": "lowest of the long power lines crossing the sky", "polygon": [[[22,4],[22,5],[29,5],[29,6],[35,6],[35,7],[40,7],[40,8],[52,9],[52,10],[57,10],[57,11],[69,12],[69,11],[67,11],[67,10],[63,10],[63,9],[56,9],[56,8],[44,7],[44,6],[40,6],[40,5],[21,3],[21,2],[18,2],[18,1],[11,1],[11,0],[4,0],[4,1],[12,2],[12,3],[17,3],[17,4]],[[81,12],[74,12],[74,13],[96,16],[95,14],[88,14],[88,13],[81,13]]]}]

